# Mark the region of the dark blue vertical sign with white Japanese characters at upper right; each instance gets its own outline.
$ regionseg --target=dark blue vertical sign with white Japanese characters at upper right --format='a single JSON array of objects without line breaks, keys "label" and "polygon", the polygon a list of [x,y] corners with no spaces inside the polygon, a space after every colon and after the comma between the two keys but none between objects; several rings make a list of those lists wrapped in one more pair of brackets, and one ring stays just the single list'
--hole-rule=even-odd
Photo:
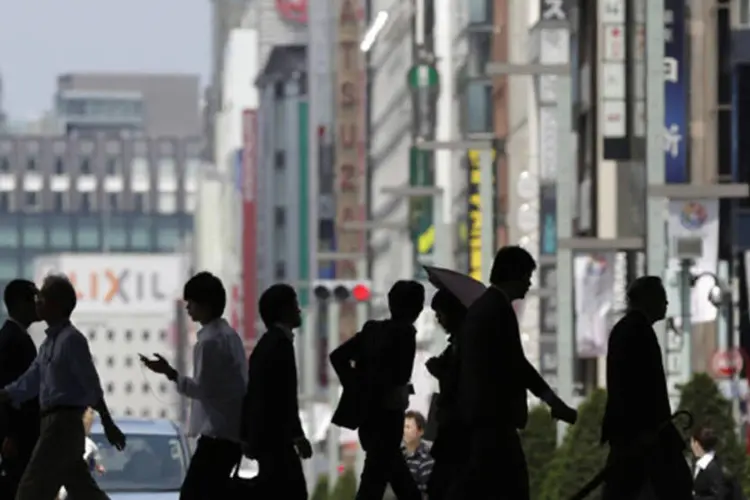
[{"label": "dark blue vertical sign with white Japanese characters at upper right", "polygon": [[664,150],[666,181],[688,182],[686,0],[664,0]]}]

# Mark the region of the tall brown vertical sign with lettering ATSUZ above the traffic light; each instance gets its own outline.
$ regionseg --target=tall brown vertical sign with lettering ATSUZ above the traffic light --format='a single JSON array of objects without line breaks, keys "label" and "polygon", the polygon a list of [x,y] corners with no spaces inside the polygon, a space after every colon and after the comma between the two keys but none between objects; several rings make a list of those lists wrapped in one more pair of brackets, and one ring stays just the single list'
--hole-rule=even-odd
[{"label": "tall brown vertical sign with lettering ATSUZ above the traffic light", "polygon": [[[364,215],[365,176],[363,132],[365,108],[363,93],[364,54],[360,43],[360,0],[338,0],[336,37],[336,248],[340,253],[365,251],[362,231],[346,229],[347,223],[361,221]],[[336,263],[338,279],[357,279],[357,262]],[[348,338],[357,331],[354,304],[341,306],[340,332]],[[333,346],[329,346],[332,348]]]}]

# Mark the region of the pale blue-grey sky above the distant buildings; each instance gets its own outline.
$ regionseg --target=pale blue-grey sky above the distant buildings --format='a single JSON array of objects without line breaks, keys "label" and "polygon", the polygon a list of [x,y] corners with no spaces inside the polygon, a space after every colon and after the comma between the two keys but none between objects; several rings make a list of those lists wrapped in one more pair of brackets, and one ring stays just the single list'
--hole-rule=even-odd
[{"label": "pale blue-grey sky above the distant buildings", "polygon": [[11,119],[49,109],[60,73],[200,73],[210,67],[210,0],[3,0],[0,74]]}]

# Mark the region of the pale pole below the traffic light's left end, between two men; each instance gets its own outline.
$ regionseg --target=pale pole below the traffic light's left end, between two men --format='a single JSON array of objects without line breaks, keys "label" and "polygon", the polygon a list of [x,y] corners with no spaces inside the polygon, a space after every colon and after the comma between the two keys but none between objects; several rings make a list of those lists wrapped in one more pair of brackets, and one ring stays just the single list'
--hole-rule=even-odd
[{"label": "pale pole below the traffic light's left end, between two men", "polygon": [[[318,385],[318,363],[315,355],[318,345],[318,302],[310,294],[307,314],[302,333],[302,395],[304,408],[307,410],[308,421],[308,438],[317,433],[315,418],[315,392]],[[307,481],[308,490],[315,487],[317,477],[315,477],[315,464],[312,460],[303,460],[305,471],[305,480]]]}]

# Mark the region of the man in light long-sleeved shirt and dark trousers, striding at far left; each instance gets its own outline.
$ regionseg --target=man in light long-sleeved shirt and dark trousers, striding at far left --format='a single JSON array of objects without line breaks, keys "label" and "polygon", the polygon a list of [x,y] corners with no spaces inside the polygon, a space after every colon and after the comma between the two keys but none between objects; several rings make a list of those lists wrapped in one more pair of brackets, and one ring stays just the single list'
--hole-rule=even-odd
[{"label": "man in light long-sleeved shirt and dark trousers, striding at far left", "polygon": [[48,325],[39,354],[26,372],[0,390],[0,401],[21,404],[39,398],[39,439],[24,471],[16,500],[53,500],[61,486],[76,500],[102,500],[83,460],[86,442],[81,420],[93,407],[107,440],[118,450],[125,435],[114,423],[91,358],[86,337],[70,322],[76,291],[64,276],[45,278],[37,295],[37,311]]}]

